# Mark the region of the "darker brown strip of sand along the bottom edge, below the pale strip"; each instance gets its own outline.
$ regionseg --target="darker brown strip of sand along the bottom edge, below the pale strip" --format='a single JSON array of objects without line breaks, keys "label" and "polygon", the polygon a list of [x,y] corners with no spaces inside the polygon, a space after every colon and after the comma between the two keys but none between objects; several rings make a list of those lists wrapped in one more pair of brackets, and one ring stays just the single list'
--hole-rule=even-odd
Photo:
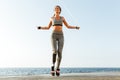
[{"label": "darker brown strip of sand along the bottom edge, below the pale strip", "polygon": [[120,76],[9,77],[0,80],[120,80]]}]

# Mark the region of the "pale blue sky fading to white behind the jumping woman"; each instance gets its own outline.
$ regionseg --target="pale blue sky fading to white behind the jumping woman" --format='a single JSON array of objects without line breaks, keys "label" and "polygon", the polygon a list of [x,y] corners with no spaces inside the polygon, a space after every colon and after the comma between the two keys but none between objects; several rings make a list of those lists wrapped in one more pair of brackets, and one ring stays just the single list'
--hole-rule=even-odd
[{"label": "pale blue sky fading to white behind the jumping woman", "polygon": [[50,67],[47,26],[60,5],[64,48],[61,67],[120,67],[120,0],[0,0],[0,67]]}]

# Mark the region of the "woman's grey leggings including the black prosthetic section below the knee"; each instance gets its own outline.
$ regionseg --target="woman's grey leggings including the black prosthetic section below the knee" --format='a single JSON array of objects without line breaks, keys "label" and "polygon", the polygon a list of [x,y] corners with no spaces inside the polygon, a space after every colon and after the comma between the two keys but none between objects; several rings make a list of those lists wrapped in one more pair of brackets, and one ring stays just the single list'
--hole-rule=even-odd
[{"label": "woman's grey leggings including the black prosthetic section below the knee", "polygon": [[64,45],[64,36],[63,32],[53,32],[52,33],[52,49],[53,49],[53,54],[52,54],[52,62],[53,65],[55,65],[56,62],[56,57],[57,57],[57,66],[56,68],[59,69],[61,59],[62,59],[62,50],[63,50],[63,45]]}]

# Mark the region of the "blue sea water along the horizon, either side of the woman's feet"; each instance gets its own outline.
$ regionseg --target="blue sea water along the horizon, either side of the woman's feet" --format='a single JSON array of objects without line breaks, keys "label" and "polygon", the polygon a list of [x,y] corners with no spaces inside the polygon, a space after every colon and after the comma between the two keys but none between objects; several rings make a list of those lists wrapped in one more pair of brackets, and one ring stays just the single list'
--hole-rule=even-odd
[{"label": "blue sea water along the horizon, either side of the woman's feet", "polygon": [[[120,72],[120,68],[61,68],[65,73]],[[50,68],[0,68],[0,76],[28,76],[50,74]]]}]

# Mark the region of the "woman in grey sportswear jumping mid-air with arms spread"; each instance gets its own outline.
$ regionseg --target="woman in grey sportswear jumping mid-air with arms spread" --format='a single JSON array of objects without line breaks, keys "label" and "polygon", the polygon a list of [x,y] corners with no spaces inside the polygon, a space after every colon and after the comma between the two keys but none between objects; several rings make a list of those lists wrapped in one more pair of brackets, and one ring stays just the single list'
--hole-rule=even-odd
[{"label": "woman in grey sportswear jumping mid-air with arms spread", "polygon": [[[51,66],[51,74],[52,76],[59,76],[60,75],[60,63],[62,59],[62,50],[64,45],[64,36],[62,31],[63,23],[64,25],[69,29],[79,29],[80,27],[77,26],[70,26],[66,22],[65,18],[63,16],[60,16],[61,13],[61,7],[55,6],[54,9],[54,16],[51,17],[49,25],[46,27],[38,26],[38,29],[48,30],[51,26],[53,26],[53,32],[52,32],[52,48],[53,48],[53,54],[52,54],[52,62],[53,65]],[[55,62],[56,62],[56,56],[57,58],[57,66],[55,69]]]}]

